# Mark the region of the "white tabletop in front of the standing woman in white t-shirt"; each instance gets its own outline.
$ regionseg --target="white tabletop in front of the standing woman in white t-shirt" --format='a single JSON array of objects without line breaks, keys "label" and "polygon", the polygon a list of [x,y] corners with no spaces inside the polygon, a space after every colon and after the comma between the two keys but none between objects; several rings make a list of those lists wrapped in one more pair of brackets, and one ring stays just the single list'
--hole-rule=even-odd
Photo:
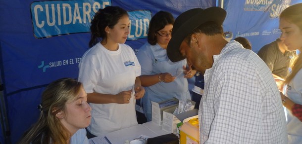
[{"label": "white tabletop in front of the standing woman in white t-shirt", "polygon": [[[156,126],[152,127],[152,122],[147,122],[147,124],[138,124],[132,127],[128,127],[125,129],[117,130],[102,136],[98,136],[92,139],[89,139],[90,141],[93,139],[101,139],[103,137],[106,137],[111,144],[124,144],[126,140],[132,141],[135,138],[139,138],[141,135],[148,136],[150,138],[161,136],[168,134],[164,132],[163,130],[159,129],[159,127]],[[154,124],[155,125],[155,124]]]}]

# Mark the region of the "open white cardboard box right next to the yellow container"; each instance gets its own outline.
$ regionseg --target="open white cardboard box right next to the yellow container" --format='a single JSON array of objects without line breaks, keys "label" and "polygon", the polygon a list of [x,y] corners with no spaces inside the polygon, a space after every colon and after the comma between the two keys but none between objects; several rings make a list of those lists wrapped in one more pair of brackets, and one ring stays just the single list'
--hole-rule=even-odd
[{"label": "open white cardboard box right next to the yellow container", "polygon": [[198,109],[193,109],[187,112],[173,114],[176,107],[168,108],[163,111],[162,130],[177,134],[177,124],[187,122],[192,118],[198,118]]}]

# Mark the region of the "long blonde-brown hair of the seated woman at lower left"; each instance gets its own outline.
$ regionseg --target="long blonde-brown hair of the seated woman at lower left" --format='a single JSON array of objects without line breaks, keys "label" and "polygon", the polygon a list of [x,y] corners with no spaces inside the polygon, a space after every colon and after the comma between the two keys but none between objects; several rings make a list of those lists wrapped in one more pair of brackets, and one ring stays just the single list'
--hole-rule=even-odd
[{"label": "long blonde-brown hair of the seated woman at lower left", "polygon": [[56,114],[65,110],[66,103],[78,97],[82,83],[72,78],[51,82],[42,94],[42,110],[35,123],[21,138],[19,144],[66,144],[70,132],[62,125]]}]

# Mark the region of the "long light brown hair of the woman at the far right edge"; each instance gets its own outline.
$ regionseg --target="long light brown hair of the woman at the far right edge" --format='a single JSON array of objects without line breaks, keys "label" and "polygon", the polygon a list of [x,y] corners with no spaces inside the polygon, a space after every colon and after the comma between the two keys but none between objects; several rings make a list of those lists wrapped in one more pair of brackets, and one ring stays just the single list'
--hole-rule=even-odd
[{"label": "long light brown hair of the woman at the far right edge", "polygon": [[[302,3],[294,4],[284,9],[280,14],[280,19],[284,19],[290,23],[297,25],[302,33]],[[302,47],[298,48],[300,51]],[[288,84],[295,75],[302,69],[302,57],[295,56],[290,62],[291,73],[286,77],[284,81]]]}]

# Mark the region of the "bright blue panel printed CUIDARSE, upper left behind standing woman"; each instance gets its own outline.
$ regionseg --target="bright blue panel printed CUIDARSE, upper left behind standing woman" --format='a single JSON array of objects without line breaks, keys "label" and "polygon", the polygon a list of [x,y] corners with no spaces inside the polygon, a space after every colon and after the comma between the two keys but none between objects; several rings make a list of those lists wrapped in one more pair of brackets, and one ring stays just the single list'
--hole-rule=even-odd
[{"label": "bright blue panel printed CUIDARSE, upper left behind standing woman", "polygon": [[111,0],[36,1],[31,4],[37,38],[90,32],[91,20]]}]

